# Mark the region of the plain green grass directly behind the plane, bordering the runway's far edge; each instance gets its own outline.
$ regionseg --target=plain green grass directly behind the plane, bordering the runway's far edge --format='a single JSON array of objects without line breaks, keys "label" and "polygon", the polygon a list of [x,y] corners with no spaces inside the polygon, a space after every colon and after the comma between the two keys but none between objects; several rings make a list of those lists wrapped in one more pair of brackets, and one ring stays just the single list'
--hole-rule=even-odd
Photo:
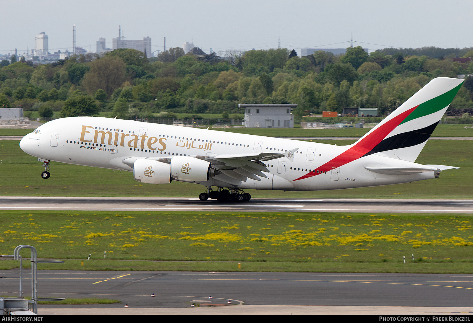
[{"label": "plain green grass directly behind the plane, bordering the runway's far edge", "polygon": [[[318,140],[328,144],[351,144],[353,140]],[[27,155],[16,140],[0,140],[0,195],[4,196],[190,196],[204,187],[173,181],[148,185],[133,180],[127,171],[51,163],[51,178],[40,177],[44,168]],[[417,162],[461,167],[447,170],[440,178],[384,187],[332,191],[283,192],[249,190],[253,197],[316,198],[472,198],[473,142],[470,140],[429,140]]]}]

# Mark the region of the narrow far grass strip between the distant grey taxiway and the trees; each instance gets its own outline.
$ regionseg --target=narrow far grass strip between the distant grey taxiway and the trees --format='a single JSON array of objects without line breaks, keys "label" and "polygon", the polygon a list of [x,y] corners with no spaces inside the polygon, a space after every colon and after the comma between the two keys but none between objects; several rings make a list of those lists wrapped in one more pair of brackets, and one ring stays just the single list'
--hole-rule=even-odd
[{"label": "narrow far grass strip between the distant grey taxiway and the trees", "polygon": [[[473,125],[438,125],[432,136],[436,137],[473,137]],[[0,136],[25,136],[33,129],[0,129]],[[302,129],[302,128],[214,128],[212,130],[235,132],[239,134],[273,137],[358,137],[365,135],[371,128],[344,129]]]}]

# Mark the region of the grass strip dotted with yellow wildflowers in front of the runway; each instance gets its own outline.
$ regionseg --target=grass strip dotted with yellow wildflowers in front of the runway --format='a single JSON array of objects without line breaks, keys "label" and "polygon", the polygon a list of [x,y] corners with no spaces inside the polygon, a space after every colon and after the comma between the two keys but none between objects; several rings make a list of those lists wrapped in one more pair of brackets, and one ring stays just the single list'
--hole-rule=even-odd
[{"label": "grass strip dotted with yellow wildflowers in front of the runway", "polygon": [[[237,270],[244,262],[244,271],[331,270],[334,263],[366,271],[373,263],[371,271],[383,272],[402,271],[406,256],[409,271],[473,272],[472,221],[429,213],[2,211],[0,253],[30,244],[41,258],[71,259],[40,269]],[[88,254],[93,262],[81,267]]]}]

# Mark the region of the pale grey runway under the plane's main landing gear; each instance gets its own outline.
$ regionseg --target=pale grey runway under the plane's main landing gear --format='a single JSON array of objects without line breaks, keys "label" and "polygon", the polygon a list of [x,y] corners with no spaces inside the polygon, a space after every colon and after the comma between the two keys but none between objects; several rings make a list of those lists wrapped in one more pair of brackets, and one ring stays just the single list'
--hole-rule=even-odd
[{"label": "pale grey runway under the plane's main landing gear", "polygon": [[473,213],[473,200],[276,199],[201,202],[186,197],[0,197],[0,210]]}]

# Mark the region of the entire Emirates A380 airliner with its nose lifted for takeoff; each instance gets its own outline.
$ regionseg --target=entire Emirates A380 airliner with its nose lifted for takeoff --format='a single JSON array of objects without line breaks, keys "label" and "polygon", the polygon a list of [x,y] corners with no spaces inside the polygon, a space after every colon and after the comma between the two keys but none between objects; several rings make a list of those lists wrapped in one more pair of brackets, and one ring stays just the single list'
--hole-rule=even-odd
[{"label": "entire Emirates A380 airliner with its nose lifted for takeoff", "polygon": [[202,201],[210,197],[245,202],[251,195],[244,189],[310,191],[413,182],[457,168],[415,160],[463,81],[433,79],[346,146],[72,117],[38,127],[21,140],[20,147],[44,163],[43,178],[50,177],[50,161],[128,170],[141,183],[201,184],[206,187],[199,195]]}]

